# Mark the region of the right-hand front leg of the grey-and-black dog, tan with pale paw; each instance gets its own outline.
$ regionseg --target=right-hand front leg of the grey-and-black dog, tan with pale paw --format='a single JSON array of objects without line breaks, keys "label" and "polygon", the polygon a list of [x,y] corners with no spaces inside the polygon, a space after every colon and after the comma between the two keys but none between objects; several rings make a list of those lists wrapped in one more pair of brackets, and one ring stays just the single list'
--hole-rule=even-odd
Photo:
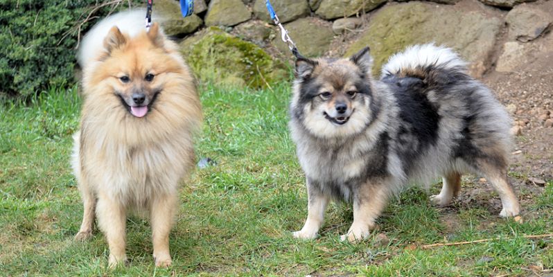
[{"label": "right-hand front leg of the grey-and-black dog, tan with pale paw", "polygon": [[353,224],[340,240],[355,242],[369,237],[374,222],[387,204],[388,195],[385,183],[363,184],[353,199]]}]

